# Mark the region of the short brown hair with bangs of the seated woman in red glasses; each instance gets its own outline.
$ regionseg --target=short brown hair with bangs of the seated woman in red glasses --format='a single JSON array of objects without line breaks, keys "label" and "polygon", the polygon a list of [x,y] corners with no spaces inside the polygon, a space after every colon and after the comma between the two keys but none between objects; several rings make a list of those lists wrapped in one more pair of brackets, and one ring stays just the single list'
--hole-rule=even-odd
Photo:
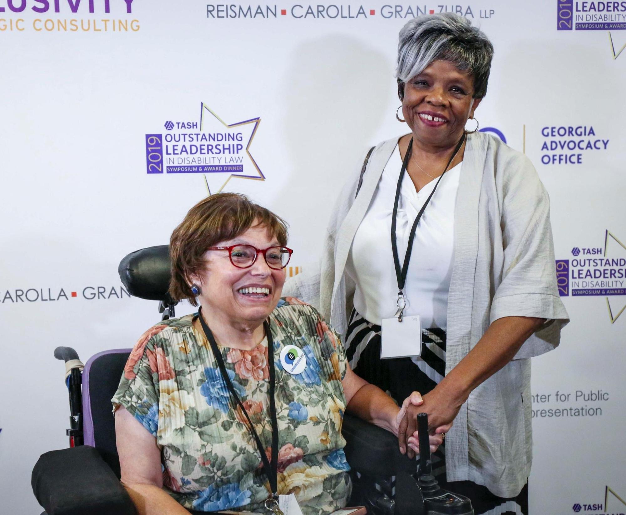
[{"label": "short brown hair with bangs of the seated woman in red glasses", "polygon": [[205,267],[204,254],[208,247],[243,234],[253,224],[267,227],[280,245],[287,244],[285,221],[269,209],[250,202],[245,195],[217,193],[194,205],[170,238],[172,299],[188,299],[197,306],[187,278]]}]

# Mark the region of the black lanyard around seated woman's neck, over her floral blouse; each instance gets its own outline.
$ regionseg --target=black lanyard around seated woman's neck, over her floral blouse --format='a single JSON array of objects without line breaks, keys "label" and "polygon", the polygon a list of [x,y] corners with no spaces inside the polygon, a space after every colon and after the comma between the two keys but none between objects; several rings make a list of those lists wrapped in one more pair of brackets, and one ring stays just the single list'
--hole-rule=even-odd
[{"label": "black lanyard around seated woman's neck, over her floral blouse", "polygon": [[270,372],[270,385],[269,385],[269,397],[270,397],[270,419],[272,421],[272,462],[267,459],[267,455],[265,454],[265,448],[261,443],[259,438],[259,434],[257,430],[254,429],[254,425],[252,424],[252,420],[250,420],[250,416],[248,412],[245,410],[244,405],[242,404],[239,395],[235,392],[235,387],[233,387],[233,383],[230,381],[230,377],[228,377],[228,373],[226,372],[226,367],[224,365],[224,358],[222,356],[222,351],[217,346],[217,342],[215,341],[215,337],[213,333],[208,328],[207,324],[204,321],[202,316],[202,308],[198,310],[198,318],[200,318],[200,324],[202,324],[202,329],[204,330],[205,336],[207,336],[208,343],[211,345],[211,349],[213,350],[213,355],[215,356],[215,360],[217,361],[218,367],[220,367],[220,372],[222,373],[222,378],[228,387],[228,392],[230,392],[231,400],[235,402],[237,406],[239,406],[240,410],[245,415],[245,418],[248,420],[248,430],[250,434],[254,437],[254,440],[257,444],[257,448],[259,449],[259,454],[261,455],[261,460],[263,462],[263,469],[265,471],[265,475],[270,482],[270,489],[272,490],[272,499],[277,499],[277,486],[278,486],[278,421],[276,419],[276,400],[274,398],[274,390],[276,386],[276,370],[274,368],[274,341],[272,338],[272,331],[270,331],[270,325],[266,321],[263,323],[263,327],[265,328],[265,336],[267,336],[267,360],[269,365]]}]

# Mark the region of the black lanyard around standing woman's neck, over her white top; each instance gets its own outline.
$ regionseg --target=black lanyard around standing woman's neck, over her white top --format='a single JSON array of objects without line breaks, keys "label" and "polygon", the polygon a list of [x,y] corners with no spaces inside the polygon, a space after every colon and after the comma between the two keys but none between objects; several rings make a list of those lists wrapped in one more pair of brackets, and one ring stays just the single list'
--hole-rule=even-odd
[{"label": "black lanyard around standing woman's neck, over her white top", "polygon": [[391,250],[393,251],[393,264],[396,268],[396,279],[398,279],[398,313],[396,313],[396,316],[398,316],[398,321],[400,322],[402,321],[402,313],[403,313],[404,304],[405,304],[404,292],[403,292],[404,284],[406,283],[406,274],[408,273],[408,270],[409,270],[409,261],[411,261],[411,251],[413,251],[413,240],[415,239],[415,232],[418,229],[419,220],[424,214],[424,210],[426,209],[428,202],[430,202],[430,199],[433,197],[434,192],[437,189],[437,186],[439,185],[439,182],[441,182],[443,174],[445,174],[448,171],[449,165],[451,164],[454,157],[456,157],[456,153],[459,151],[459,148],[461,148],[461,145],[463,145],[464,141],[465,141],[465,132],[463,132],[463,136],[461,136],[461,139],[459,140],[459,142],[456,143],[454,152],[452,153],[450,160],[448,161],[448,164],[446,165],[446,168],[443,170],[443,173],[439,175],[439,179],[435,183],[433,191],[431,191],[431,194],[428,195],[428,199],[426,199],[426,202],[424,202],[422,209],[419,210],[418,216],[413,222],[413,227],[411,227],[411,232],[409,233],[409,243],[408,243],[408,246],[406,247],[404,263],[402,265],[402,268],[400,268],[400,259],[398,258],[398,244],[396,243],[396,219],[398,218],[398,202],[400,200],[400,190],[402,188],[402,179],[404,177],[404,172],[406,171],[406,166],[409,164],[409,159],[411,159],[411,150],[413,148],[413,138],[411,138],[411,141],[409,142],[409,146],[406,149],[406,155],[404,155],[404,161],[402,163],[402,168],[400,169],[400,177],[398,177],[398,186],[396,187],[396,200],[394,200],[393,215],[391,218]]}]

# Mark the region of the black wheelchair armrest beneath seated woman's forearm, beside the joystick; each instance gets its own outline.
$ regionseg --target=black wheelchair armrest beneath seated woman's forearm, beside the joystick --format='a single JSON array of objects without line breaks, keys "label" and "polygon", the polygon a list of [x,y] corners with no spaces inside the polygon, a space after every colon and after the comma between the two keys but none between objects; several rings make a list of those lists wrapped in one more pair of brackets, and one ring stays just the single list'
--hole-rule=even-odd
[{"label": "black wheelchair armrest beneath seated woman's forearm, beside the joystick", "polygon": [[394,476],[413,473],[418,462],[401,454],[398,438],[389,431],[345,414],[342,434],[346,439],[346,459],[357,472],[368,476]]}]

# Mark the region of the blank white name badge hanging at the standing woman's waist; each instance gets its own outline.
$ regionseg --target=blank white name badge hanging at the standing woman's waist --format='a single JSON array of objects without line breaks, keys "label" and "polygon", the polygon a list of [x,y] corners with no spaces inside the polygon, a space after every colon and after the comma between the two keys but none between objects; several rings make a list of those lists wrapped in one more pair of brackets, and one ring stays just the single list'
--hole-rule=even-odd
[{"label": "blank white name badge hanging at the standing woman's waist", "polygon": [[422,326],[419,315],[383,318],[381,323],[381,360],[413,358],[422,354]]}]

